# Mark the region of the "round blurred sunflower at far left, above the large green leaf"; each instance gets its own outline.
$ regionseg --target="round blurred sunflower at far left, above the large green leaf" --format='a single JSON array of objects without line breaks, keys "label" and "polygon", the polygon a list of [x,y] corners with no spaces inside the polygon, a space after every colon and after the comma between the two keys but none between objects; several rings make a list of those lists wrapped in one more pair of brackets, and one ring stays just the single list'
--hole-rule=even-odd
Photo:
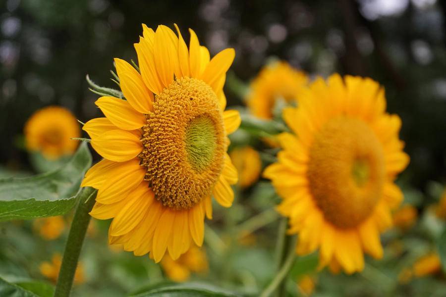
[{"label": "round blurred sunflower at far left, above the large green leaf", "polygon": [[48,106],[36,111],[25,124],[26,148],[40,151],[48,159],[72,154],[80,137],[79,123],[72,113],[60,106]]}]

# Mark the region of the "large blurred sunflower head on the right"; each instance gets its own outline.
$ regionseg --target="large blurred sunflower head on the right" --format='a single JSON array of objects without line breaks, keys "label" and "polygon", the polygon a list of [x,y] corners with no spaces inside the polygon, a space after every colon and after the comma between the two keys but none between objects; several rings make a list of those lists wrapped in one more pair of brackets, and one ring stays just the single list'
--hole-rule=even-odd
[{"label": "large blurred sunflower head on the right", "polygon": [[368,78],[317,79],[283,110],[292,133],[264,172],[283,198],[279,212],[299,234],[298,254],[319,249],[321,267],[361,271],[363,252],[383,255],[380,232],[402,200],[394,184],[408,164],[401,120],[386,113],[384,89]]}]

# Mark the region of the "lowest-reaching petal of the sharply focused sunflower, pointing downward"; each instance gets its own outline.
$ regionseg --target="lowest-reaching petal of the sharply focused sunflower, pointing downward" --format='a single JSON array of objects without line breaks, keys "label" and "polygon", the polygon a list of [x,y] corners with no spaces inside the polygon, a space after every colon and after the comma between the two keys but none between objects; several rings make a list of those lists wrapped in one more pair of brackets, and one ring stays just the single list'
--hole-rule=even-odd
[{"label": "lowest-reaching petal of the sharply focused sunflower, pointing downward", "polygon": [[157,229],[153,238],[153,257],[156,263],[163,258],[167,243],[172,232],[173,222],[175,220],[175,211],[165,209],[158,221]]}]

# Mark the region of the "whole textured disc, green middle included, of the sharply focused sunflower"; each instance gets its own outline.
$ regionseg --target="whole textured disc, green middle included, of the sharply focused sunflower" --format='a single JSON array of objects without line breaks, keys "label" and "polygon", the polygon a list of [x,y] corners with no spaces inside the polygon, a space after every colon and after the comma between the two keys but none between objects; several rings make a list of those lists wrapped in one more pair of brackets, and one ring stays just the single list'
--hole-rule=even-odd
[{"label": "whole textured disc, green middle included, of the sharply focused sunflower", "polygon": [[145,180],[163,205],[189,209],[211,195],[226,151],[223,114],[210,86],[175,80],[155,96],[139,157]]}]

